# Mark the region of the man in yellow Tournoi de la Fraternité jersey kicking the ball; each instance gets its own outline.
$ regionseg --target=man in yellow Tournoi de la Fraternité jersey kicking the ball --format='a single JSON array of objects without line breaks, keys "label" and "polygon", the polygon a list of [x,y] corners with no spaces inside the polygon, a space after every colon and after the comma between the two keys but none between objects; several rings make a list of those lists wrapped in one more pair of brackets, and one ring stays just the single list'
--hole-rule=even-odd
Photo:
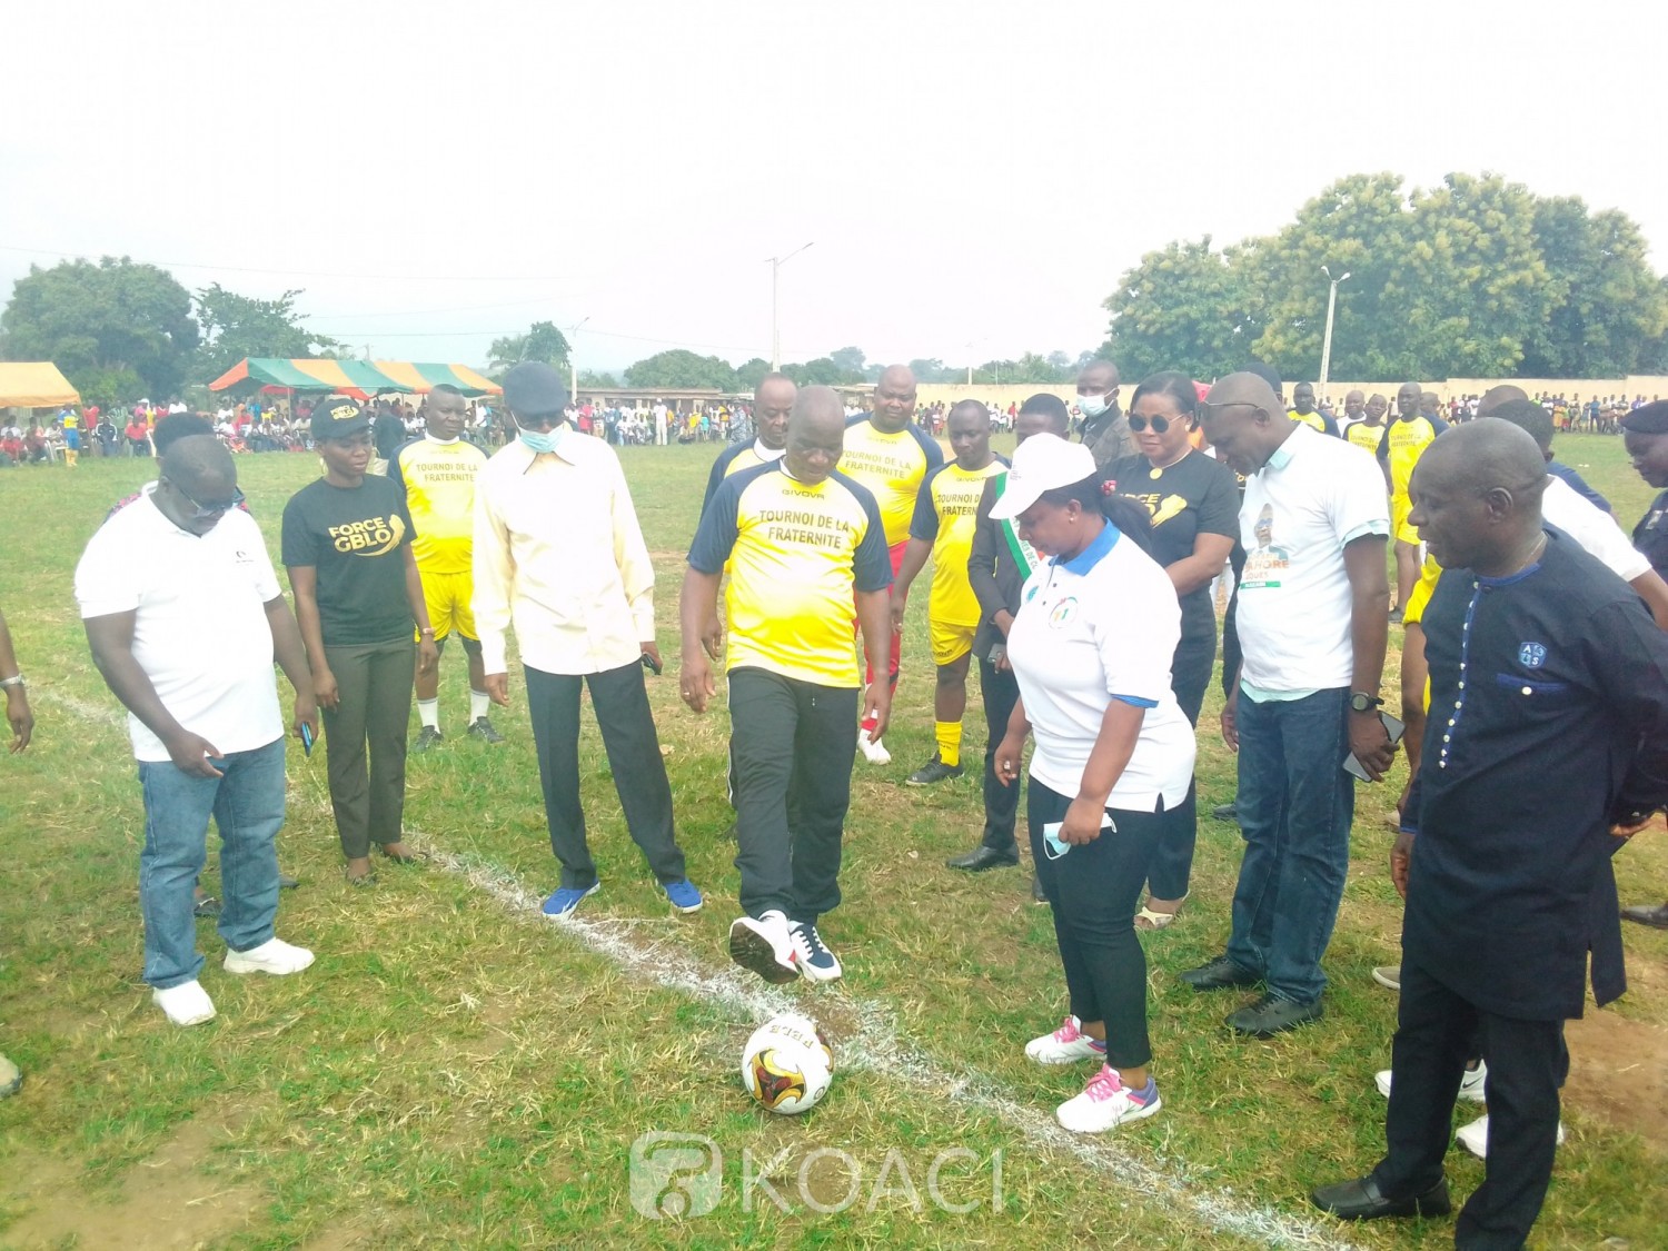
[{"label": "man in yellow Tournoi de la Fraternit\u00e9 jersey kicking the ball", "polygon": [[[862,671],[852,602],[871,669],[891,637],[892,570],[874,495],[844,474],[846,412],[829,387],[806,387],[787,454],[724,480],[689,547],[679,615],[684,702],[717,692],[702,631],[729,569],[731,771],[736,867],[746,916],[731,957],[771,982],[834,981],[839,959],[817,921],[839,904],[839,864]],[[892,692],[871,682],[862,717],[886,732]]]}]

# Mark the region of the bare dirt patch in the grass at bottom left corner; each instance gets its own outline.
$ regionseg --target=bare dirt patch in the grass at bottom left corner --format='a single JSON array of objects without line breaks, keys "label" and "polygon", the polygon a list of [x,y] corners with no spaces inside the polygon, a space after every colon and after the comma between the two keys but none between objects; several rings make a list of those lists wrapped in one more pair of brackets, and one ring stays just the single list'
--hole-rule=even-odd
[{"label": "bare dirt patch in the grass at bottom left corner", "polygon": [[0,1204],[23,1209],[5,1228],[7,1246],[195,1248],[245,1226],[269,1199],[250,1183],[202,1173],[227,1136],[227,1119],[208,1113],[182,1124],[167,1143],[122,1178],[113,1201],[88,1196],[78,1169],[38,1153],[18,1153],[0,1181]]}]

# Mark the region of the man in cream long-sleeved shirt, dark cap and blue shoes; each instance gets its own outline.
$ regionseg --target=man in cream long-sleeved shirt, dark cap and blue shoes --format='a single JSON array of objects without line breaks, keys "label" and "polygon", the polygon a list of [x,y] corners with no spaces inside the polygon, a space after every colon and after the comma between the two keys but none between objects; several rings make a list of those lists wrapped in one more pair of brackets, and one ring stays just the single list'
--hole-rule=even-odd
[{"label": "man in cream long-sleeved shirt, dark cap and blue shoes", "polygon": [[654,565],[619,457],[562,422],[567,389],[542,362],[504,375],[504,405],[519,437],[475,479],[474,609],[492,702],[509,706],[504,636],[512,622],[527,676],[545,821],[562,862],[544,912],[564,917],[599,887],[579,806],[582,684],[626,827],[672,906],[694,912],[701,891],[672,832],[672,787],[642,676],[644,664],[661,671]]}]

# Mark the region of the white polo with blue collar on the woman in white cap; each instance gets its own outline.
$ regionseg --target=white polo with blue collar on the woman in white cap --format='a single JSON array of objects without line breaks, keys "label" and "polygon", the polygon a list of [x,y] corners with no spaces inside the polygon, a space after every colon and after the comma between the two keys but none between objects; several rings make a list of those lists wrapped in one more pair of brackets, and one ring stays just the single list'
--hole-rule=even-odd
[{"label": "white polo with blue collar on the woman in white cap", "polygon": [[1109,807],[1153,812],[1188,797],[1194,737],[1171,691],[1181,605],[1169,575],[1114,525],[1066,562],[1031,574],[1007,659],[1036,734],[1031,777],[1074,797],[1114,697],[1146,707]]}]

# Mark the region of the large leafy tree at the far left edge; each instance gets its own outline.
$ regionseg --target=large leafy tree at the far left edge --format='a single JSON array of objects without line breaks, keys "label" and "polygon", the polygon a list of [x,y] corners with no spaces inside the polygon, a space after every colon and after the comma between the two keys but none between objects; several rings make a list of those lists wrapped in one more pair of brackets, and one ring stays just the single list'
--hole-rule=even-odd
[{"label": "large leafy tree at the far left edge", "polygon": [[0,357],[52,360],[83,395],[140,399],[133,379],[148,397],[177,395],[197,340],[190,292],[127,257],[30,265],[0,314]]}]

